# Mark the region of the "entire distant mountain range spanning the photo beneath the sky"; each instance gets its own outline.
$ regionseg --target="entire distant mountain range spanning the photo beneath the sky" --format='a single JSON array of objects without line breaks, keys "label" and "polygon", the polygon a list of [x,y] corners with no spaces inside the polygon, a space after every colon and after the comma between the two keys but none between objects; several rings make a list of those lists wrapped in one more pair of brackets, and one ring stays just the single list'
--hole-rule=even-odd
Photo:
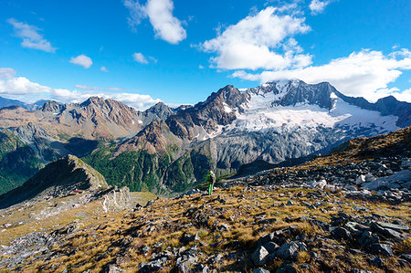
[{"label": "entire distant mountain range spanning the photo beneath the sky", "polygon": [[[8,174],[0,176],[0,190],[22,184],[40,166],[70,153],[108,184],[181,192],[204,183],[209,168],[221,177],[245,164],[292,162],[354,137],[409,125],[410,103],[394,97],[370,103],[347,97],[327,82],[301,80],[252,89],[227,86],[205,101],[176,109],[158,103],[139,111],[97,97],[82,103],[49,100],[37,110],[9,106],[0,110],[0,173],[31,171],[15,177],[14,184]],[[10,156],[23,148],[30,156],[20,155],[23,160],[12,164]]]}]

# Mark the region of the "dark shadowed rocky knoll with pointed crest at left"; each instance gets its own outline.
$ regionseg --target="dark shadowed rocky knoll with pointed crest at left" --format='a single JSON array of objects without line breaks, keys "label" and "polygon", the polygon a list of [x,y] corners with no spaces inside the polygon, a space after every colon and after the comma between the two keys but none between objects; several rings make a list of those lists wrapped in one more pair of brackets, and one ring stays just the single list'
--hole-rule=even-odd
[{"label": "dark shadowed rocky knoll with pointed crest at left", "polygon": [[20,187],[0,196],[0,208],[36,200],[67,196],[75,190],[97,191],[108,187],[104,177],[73,155],[49,163]]}]

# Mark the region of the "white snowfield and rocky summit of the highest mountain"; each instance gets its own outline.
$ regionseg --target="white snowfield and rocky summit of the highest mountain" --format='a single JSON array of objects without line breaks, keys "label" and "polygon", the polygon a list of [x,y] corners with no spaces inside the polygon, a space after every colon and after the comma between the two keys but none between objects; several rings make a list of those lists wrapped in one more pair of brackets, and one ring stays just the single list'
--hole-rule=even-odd
[{"label": "white snowfield and rocky summit of the highest mountain", "polygon": [[275,81],[244,92],[246,100],[230,108],[236,120],[220,125],[211,135],[222,131],[299,130],[317,127],[355,131],[356,136],[369,136],[399,129],[398,117],[383,115],[343,100],[342,94],[328,83],[309,85],[300,80]]}]

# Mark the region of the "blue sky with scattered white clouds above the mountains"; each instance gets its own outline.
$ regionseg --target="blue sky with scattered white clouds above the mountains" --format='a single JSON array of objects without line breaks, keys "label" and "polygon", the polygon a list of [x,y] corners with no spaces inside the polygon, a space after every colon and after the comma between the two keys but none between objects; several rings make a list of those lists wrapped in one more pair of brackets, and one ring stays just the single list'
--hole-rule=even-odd
[{"label": "blue sky with scattered white clouds above the mountains", "polygon": [[2,0],[0,96],[144,110],[302,79],[411,102],[410,14],[409,0]]}]

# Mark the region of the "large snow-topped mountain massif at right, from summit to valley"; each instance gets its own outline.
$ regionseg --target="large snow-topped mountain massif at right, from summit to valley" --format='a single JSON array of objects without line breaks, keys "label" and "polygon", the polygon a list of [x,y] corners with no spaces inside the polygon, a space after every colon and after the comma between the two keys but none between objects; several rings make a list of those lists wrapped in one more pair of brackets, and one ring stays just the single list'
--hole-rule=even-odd
[{"label": "large snow-topped mountain massif at right, from summit to valley", "polygon": [[[204,183],[210,167],[224,176],[253,162],[300,162],[296,159],[329,152],[354,137],[395,131],[409,123],[404,113],[410,110],[410,103],[395,99],[373,104],[347,97],[326,82],[274,81],[244,90],[227,86],[195,106],[175,110],[165,121],[150,123],[117,144],[104,160],[94,156],[106,163],[86,160],[103,173],[122,152],[146,151],[166,158],[163,175],[151,177],[150,184],[162,191],[164,185],[183,191]],[[133,162],[131,167],[117,166],[126,170],[117,178],[144,184],[141,175],[131,173],[147,162]]]}]

